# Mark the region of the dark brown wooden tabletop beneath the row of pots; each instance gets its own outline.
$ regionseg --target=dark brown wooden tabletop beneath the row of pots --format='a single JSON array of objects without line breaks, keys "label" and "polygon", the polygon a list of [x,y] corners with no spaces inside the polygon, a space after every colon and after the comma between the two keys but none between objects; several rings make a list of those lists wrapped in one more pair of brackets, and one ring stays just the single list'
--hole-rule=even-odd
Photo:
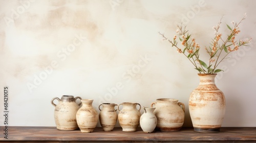
[{"label": "dark brown wooden tabletop beneath the row of pots", "polygon": [[56,127],[9,127],[8,139],[3,136],[3,128],[0,142],[256,142],[256,127],[223,127],[218,133],[198,133],[193,128],[154,133],[144,133],[141,128],[137,132],[123,132],[121,128],[104,132],[96,128],[92,133],[81,133],[80,130],[60,131]]}]

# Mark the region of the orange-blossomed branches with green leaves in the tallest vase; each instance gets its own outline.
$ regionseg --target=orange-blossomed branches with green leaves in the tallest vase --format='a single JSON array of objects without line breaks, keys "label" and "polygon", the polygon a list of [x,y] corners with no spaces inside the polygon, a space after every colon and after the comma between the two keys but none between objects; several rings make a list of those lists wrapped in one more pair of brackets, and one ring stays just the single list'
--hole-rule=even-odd
[{"label": "orange-blossomed branches with green leaves in the tallest vase", "polygon": [[[161,34],[160,32],[159,34],[163,37],[163,40],[167,40],[169,43],[171,43],[172,47],[176,47],[178,53],[182,53],[184,56],[186,56],[186,58],[195,66],[195,69],[197,69],[199,73],[215,74],[223,71],[222,69],[217,69],[217,67],[227,57],[229,53],[237,51],[240,46],[250,43],[251,38],[239,40],[239,42],[234,40],[236,39],[236,36],[241,32],[238,26],[245,19],[245,17],[246,13],[244,14],[244,17],[240,20],[239,23],[234,23],[232,21],[231,23],[233,24],[233,28],[231,28],[229,25],[226,25],[227,28],[230,30],[230,34],[228,34],[225,39],[223,39],[222,34],[219,33],[223,17],[221,17],[220,21],[217,24],[217,27],[213,27],[215,30],[215,37],[214,39],[212,39],[212,42],[210,44],[211,46],[205,47],[205,50],[209,55],[208,65],[199,59],[200,46],[198,43],[196,43],[196,40],[194,38],[191,40],[191,34],[188,34],[186,26],[183,27],[183,25],[181,24],[181,26],[178,26],[178,29],[176,31],[176,33],[178,33],[179,35],[179,40],[181,41],[180,45],[178,45],[176,35],[174,36],[173,40],[169,40],[164,36],[164,34]],[[221,57],[223,51],[225,51],[226,54]]]}]

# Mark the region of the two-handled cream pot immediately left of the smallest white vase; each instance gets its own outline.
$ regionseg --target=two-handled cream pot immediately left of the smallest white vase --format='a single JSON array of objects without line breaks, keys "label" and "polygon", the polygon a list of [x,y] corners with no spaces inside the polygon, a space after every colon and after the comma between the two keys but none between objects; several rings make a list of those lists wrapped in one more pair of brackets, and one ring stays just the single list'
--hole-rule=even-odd
[{"label": "two-handled cream pot immediately left of the smallest white vase", "polygon": [[[122,110],[119,110],[119,106],[122,105]],[[124,132],[135,132],[140,124],[140,109],[136,108],[136,106],[140,104],[134,102],[124,102],[117,106],[119,111],[118,121],[120,126],[122,127],[122,131]]]}]

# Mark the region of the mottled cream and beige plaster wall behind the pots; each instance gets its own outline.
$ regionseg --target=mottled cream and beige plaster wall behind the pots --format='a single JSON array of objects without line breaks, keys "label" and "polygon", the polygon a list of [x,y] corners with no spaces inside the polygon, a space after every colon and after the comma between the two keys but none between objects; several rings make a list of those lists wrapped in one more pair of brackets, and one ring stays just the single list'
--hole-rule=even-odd
[{"label": "mottled cream and beige plaster wall behind the pots", "polygon": [[[5,86],[10,126],[55,126],[50,101],[65,94],[94,99],[97,110],[103,102],[148,107],[158,98],[174,98],[185,104],[184,126],[191,127],[188,98],[199,83],[197,71],[158,31],[172,38],[183,22],[203,49],[222,15],[224,33],[225,23],[246,12],[240,38],[252,37],[252,42],[220,65],[225,72],[216,83],[226,97],[223,126],[256,127],[255,5],[238,0],[0,1],[0,111]],[[0,126],[3,122],[2,116]]]}]

